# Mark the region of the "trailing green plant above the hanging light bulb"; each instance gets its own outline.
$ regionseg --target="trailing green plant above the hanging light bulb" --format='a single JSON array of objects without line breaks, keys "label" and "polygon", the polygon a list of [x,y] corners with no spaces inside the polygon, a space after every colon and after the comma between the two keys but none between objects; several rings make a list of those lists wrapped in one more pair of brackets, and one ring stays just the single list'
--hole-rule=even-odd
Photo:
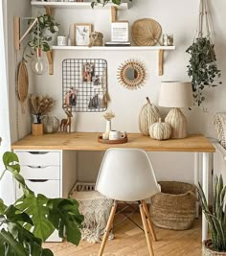
[{"label": "trailing green plant above the hanging light bulb", "polygon": [[[31,24],[33,20],[29,20]],[[36,49],[40,48],[44,52],[48,52],[51,46],[56,41],[56,35],[58,32],[59,24],[53,16],[49,14],[42,14],[37,16],[37,22],[31,30],[32,39],[28,42],[28,45],[32,48],[32,54]]]}]

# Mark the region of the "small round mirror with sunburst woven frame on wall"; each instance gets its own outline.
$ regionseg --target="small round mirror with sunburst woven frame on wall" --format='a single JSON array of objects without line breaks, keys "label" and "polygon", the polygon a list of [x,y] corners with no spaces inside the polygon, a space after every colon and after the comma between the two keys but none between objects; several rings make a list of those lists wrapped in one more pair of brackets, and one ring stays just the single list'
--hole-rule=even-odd
[{"label": "small round mirror with sunburst woven frame on wall", "polygon": [[125,61],[118,70],[118,80],[128,89],[137,89],[146,81],[146,68],[137,60]]}]

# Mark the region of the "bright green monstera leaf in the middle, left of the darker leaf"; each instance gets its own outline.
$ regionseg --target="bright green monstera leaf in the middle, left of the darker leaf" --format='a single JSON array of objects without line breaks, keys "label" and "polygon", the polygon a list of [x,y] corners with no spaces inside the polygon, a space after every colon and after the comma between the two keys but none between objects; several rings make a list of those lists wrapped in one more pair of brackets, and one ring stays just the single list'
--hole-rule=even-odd
[{"label": "bright green monstera leaf in the middle, left of the darker leaf", "polygon": [[[19,198],[15,204],[16,208],[30,216],[34,223],[34,236],[42,241],[46,241],[55,230],[52,222],[48,220],[49,208],[46,206],[47,202],[48,198],[43,195],[38,194],[35,197],[34,194],[30,194]],[[33,227],[26,225],[26,228],[31,230]]]}]

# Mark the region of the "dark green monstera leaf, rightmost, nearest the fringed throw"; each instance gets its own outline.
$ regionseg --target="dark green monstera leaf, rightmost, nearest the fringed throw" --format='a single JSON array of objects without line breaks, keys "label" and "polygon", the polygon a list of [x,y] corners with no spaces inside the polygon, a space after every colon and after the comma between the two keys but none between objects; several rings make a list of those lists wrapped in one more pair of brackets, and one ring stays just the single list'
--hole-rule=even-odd
[{"label": "dark green monstera leaf, rightmost, nearest the fringed throw", "polygon": [[84,217],[79,214],[79,203],[75,199],[49,199],[49,220],[58,230],[59,237],[66,238],[72,244],[79,244],[81,222]]}]

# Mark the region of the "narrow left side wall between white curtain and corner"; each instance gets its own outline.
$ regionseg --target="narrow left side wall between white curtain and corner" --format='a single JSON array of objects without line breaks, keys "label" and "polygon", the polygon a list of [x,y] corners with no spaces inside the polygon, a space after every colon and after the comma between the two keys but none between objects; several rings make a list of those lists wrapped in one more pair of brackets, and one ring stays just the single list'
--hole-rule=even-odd
[{"label": "narrow left side wall between white curtain and corner", "polygon": [[[13,45],[13,16],[22,17],[31,16],[32,8],[30,0],[7,0],[7,21],[8,21],[8,60],[9,60],[9,87],[10,87],[10,111],[11,111],[11,141],[12,143],[19,138],[24,137],[31,132],[31,114],[29,102],[25,104],[25,113],[22,113],[21,104],[17,101],[15,75],[18,64],[23,56],[23,47],[26,42],[22,43],[21,50],[15,54]],[[27,21],[21,19],[21,34],[26,30]],[[29,65],[28,69],[29,69]],[[29,72],[29,91],[33,91],[33,75]],[[17,105],[18,103],[18,105]],[[17,112],[18,111],[18,112]],[[16,117],[18,113],[18,118]],[[17,126],[18,119],[18,126]],[[17,132],[19,127],[19,132]]]}]

